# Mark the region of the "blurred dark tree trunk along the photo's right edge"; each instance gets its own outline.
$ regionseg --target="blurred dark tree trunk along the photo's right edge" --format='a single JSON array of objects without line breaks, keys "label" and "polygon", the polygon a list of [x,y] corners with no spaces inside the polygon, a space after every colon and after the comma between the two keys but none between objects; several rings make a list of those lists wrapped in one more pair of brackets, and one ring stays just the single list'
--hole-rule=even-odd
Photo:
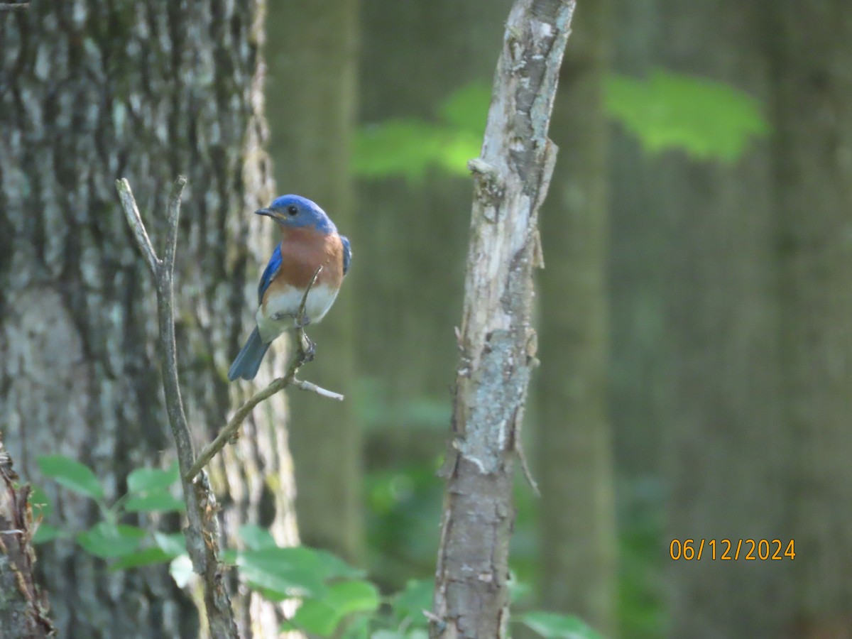
[{"label": "blurred dark tree trunk along the photo's right edge", "polygon": [[[797,637],[852,636],[852,8],[769,3]],[[841,506],[841,504],[847,504]]]}]

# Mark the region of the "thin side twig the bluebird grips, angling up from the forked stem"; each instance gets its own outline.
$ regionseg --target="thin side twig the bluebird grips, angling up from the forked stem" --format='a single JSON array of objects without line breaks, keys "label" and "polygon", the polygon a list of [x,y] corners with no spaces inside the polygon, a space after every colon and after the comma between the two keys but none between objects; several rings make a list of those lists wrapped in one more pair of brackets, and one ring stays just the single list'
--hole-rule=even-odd
[{"label": "thin side twig the bluebird grips, angling up from the forked stem", "polygon": [[302,302],[299,303],[299,313],[296,317],[296,343],[298,344],[298,347],[296,348],[296,353],[293,354],[293,357],[290,360],[290,365],[287,366],[287,373],[284,377],[279,377],[273,380],[273,382],[269,383],[265,389],[253,394],[245,401],[243,406],[240,406],[237,411],[233,413],[233,417],[231,417],[225,427],[219,431],[219,435],[216,435],[216,439],[204,447],[199,458],[195,460],[195,463],[193,463],[192,468],[190,468],[184,475],[186,481],[193,481],[195,476],[201,472],[201,469],[210,463],[212,458],[216,457],[216,453],[221,451],[228,441],[232,441],[237,436],[239,427],[243,424],[245,418],[249,416],[255,406],[260,404],[263,400],[268,400],[273,396],[273,394],[279,393],[279,391],[287,388],[291,384],[295,385],[296,388],[309,390],[324,397],[329,397],[332,400],[343,401],[342,394],[334,393],[331,390],[325,390],[314,383],[296,379],[296,372],[306,362],[308,362],[311,357],[313,357],[311,354],[311,343],[305,335],[304,329],[305,305],[308,303],[308,293],[314,287],[314,284],[316,284],[317,277],[319,277],[321,270],[322,267],[320,266],[316,269],[316,271],[314,271],[314,277],[312,277],[311,281],[308,282],[308,288],[305,289],[305,292],[302,295]]}]

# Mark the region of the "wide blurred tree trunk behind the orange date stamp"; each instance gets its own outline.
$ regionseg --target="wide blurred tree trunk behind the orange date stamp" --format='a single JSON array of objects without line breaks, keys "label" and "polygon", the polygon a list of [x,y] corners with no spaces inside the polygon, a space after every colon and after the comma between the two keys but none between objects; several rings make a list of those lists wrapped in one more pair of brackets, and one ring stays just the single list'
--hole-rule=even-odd
[{"label": "wide blurred tree trunk behind the orange date stamp", "polygon": [[[678,72],[769,95],[763,14],[733,0],[660,3],[660,58]],[[769,147],[733,166],[670,153],[658,164],[667,222],[666,341],[671,413],[665,546],[717,540],[717,559],[667,561],[671,636],[780,636],[789,561],[721,561],[729,538],[788,535],[786,430]],[[696,550],[698,549],[696,545]]]}]

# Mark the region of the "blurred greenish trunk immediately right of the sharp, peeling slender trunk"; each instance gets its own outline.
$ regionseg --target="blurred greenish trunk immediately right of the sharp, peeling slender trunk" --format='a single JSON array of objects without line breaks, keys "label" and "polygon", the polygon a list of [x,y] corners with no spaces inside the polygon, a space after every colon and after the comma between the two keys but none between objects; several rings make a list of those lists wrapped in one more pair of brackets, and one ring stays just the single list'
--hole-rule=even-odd
[{"label": "blurred greenish trunk immediately right of the sharp, peeling slender trunk", "polygon": [[[538,476],[544,606],[615,629],[615,498],[607,416],[608,3],[580,3],[553,112],[561,151],[541,227]],[[583,575],[582,579],[578,579]]]}]

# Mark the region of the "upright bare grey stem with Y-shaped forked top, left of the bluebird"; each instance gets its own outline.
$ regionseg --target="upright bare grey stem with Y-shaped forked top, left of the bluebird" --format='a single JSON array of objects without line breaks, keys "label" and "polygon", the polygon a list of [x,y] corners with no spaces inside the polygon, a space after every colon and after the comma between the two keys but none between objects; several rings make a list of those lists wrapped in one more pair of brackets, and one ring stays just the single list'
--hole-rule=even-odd
[{"label": "upright bare grey stem with Y-shaped forked top, left of the bluebird", "polygon": [[[148,239],[145,225],[142,223],[139,209],[136,207],[130,183],[119,180],[116,183],[118,195],[124,208],[136,244],[145,257],[157,290],[157,317],[160,337],[160,370],[163,375],[166,412],[169,414],[172,435],[177,447],[177,460],[181,476],[193,465],[195,453],[193,441],[189,435],[187,416],[183,410],[181,387],[177,376],[177,348],[175,345],[174,295],[172,273],[175,263],[175,245],[177,222],[180,214],[181,193],[187,183],[185,177],[178,177],[169,201],[169,227],[166,233],[166,261],[158,260],[151,240]],[[225,573],[219,561],[219,527],[216,521],[216,496],[210,490],[210,484],[204,477],[193,486],[192,481],[182,481],[183,498],[187,503],[187,552],[193,561],[193,570],[199,573],[204,583],[204,605],[210,624],[210,635],[216,639],[236,639],[237,625],[233,618],[231,600],[227,594]]]}]

